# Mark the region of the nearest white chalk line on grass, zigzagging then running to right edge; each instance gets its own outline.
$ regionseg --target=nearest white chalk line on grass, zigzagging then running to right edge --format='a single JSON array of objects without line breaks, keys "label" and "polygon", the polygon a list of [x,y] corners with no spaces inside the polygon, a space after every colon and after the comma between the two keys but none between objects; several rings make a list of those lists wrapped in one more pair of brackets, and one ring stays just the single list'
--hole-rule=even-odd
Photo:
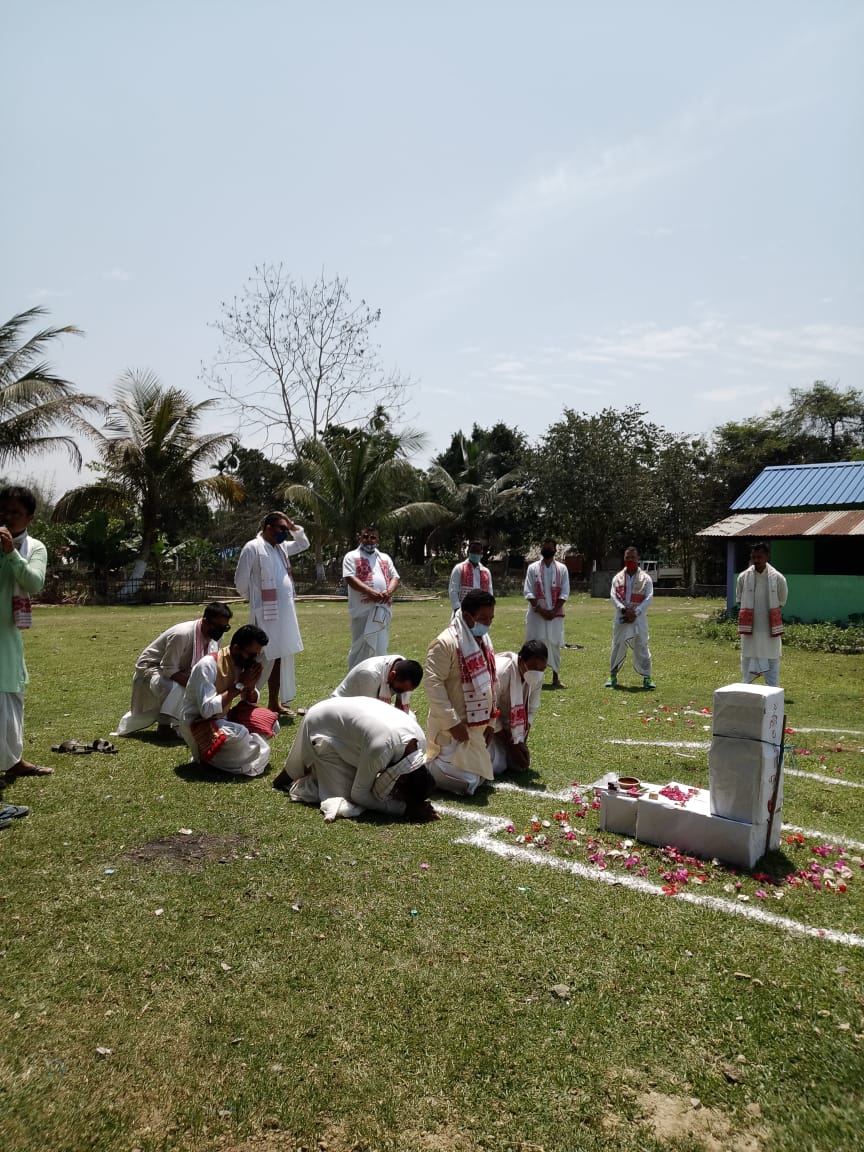
[{"label": "nearest white chalk line on grass, zigzagging then running to right edge", "polygon": [[525,864],[569,872],[570,876],[577,876],[583,880],[593,880],[613,887],[629,888],[631,892],[639,892],[645,896],[665,896],[666,900],[680,900],[685,904],[710,908],[712,911],[725,912],[729,916],[743,916],[744,919],[767,924],[790,935],[813,937],[818,940],[829,940],[832,943],[842,943],[851,948],[864,948],[864,937],[856,935],[854,932],[811,927],[809,924],[793,920],[788,916],[778,916],[775,912],[768,912],[763,908],[756,908],[752,904],[744,904],[737,901],[722,900],[720,896],[705,896],[692,892],[677,892],[674,896],[669,896],[664,893],[660,885],[652,884],[650,880],[643,880],[641,877],[601,871],[600,869],[589,867],[586,864],[579,864],[578,861],[567,861],[561,856],[541,855],[530,848],[505,843],[501,840],[494,839],[495,834],[503,832],[510,823],[500,816],[471,812],[450,804],[437,804],[435,808],[444,816],[453,816],[469,824],[479,825],[475,832],[470,832],[465,836],[457,836],[455,840],[457,844],[482,848],[484,851],[492,852],[493,856],[501,856],[505,859],[518,859]]}]

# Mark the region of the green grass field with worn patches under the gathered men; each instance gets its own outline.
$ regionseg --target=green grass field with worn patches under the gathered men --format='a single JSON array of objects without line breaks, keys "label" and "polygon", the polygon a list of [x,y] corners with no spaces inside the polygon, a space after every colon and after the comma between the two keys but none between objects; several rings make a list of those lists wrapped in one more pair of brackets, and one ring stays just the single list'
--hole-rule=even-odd
[{"label": "green grass field with worn patches under the gathered men", "polygon": [[[652,851],[651,890],[612,884],[638,846],[570,798],[609,770],[706,786],[705,748],[659,742],[706,742],[698,713],[737,679],[734,646],[696,632],[714,607],[654,601],[658,690],[627,669],[611,692],[608,602],[577,598],[568,641],[584,647],[563,653],[567,691],[544,691],[531,772],[442,798],[426,826],[325,825],[273,770],[192,770],[146,734],[115,757],[52,753],[107,736],[141,649],[195,613],[37,609],[25,756],[56,773],[3,791],[31,806],[0,832],[3,1149],[861,1149],[864,736],[833,729],[864,729],[864,657],[787,649],[781,667],[789,725],[832,729],[790,737],[804,774],[787,776],[783,820],[805,831],[783,849],[796,869],[848,871],[844,892],[707,866],[662,895],[672,865]],[[343,674],[348,619],[298,615],[309,704]],[[391,650],[422,659],[447,615],[397,605]],[[523,620],[499,602],[498,650]],[[543,848],[518,840],[535,824]]]}]

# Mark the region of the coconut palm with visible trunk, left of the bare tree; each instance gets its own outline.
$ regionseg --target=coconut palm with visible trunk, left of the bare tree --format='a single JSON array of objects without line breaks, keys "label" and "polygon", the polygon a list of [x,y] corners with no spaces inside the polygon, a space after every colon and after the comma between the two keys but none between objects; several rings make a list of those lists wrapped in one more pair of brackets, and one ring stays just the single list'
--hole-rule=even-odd
[{"label": "coconut palm with visible trunk, left of the bare tree", "polygon": [[215,500],[233,505],[243,487],[233,476],[200,476],[225,455],[228,434],[199,434],[202,414],[214,406],[192,403],[180,388],[165,388],[152,372],[126,372],[115,391],[105,431],[86,425],[101,457],[103,478],[60,498],[55,521],[81,520],[94,508],[141,521],[141,547],[123,592],[134,590],[146,570],[166,511],[177,505]]}]

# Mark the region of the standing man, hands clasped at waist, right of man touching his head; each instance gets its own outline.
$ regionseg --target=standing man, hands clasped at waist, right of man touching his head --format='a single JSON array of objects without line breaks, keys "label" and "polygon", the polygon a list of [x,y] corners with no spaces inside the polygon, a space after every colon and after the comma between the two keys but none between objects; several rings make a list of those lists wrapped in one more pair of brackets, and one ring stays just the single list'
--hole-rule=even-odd
[{"label": "standing man, hands clasped at waist, right of man touching his head", "polygon": [[393,593],[399,573],[386,552],[378,551],[378,529],[364,528],[358,546],[342,560],[342,578],[348,585],[351,617],[351,650],[348,670],[373,655],[386,655],[391,639]]}]

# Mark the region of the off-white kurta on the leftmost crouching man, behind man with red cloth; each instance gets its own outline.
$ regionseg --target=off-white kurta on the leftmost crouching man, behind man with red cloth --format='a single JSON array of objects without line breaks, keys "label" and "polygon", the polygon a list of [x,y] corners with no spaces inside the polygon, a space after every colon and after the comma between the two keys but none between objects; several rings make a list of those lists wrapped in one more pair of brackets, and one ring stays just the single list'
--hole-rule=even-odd
[{"label": "off-white kurta on the leftmost crouching man, behind man with red cloth", "polygon": [[[183,684],[170,677],[177,673],[185,676],[192,670],[195,653],[195,629],[200,621],[185,620],[167,628],[149,644],[135,662],[132,675],[132,699],[118,730],[112,736],[129,736],[142,732],[152,723],[179,723],[183,711]],[[215,641],[206,642],[207,652],[218,652]]]}]

